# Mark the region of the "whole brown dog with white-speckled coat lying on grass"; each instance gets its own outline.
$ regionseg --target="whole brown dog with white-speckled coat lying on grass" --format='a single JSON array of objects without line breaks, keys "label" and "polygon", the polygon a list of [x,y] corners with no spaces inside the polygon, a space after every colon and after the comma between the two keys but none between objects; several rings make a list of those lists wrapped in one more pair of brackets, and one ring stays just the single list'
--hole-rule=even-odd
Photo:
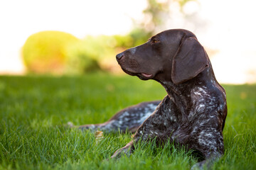
[{"label": "whole brown dog with white-speckled coat lying on grass", "polygon": [[81,127],[104,130],[102,127],[109,125],[107,130],[136,130],[132,142],[118,149],[112,158],[131,154],[139,140],[154,138],[198,150],[206,158],[196,165],[200,167],[223,154],[225,90],[216,81],[208,55],[193,33],[166,30],[120,53],[117,62],[127,74],[158,81],[167,96],[161,103],[124,109],[107,123]]}]

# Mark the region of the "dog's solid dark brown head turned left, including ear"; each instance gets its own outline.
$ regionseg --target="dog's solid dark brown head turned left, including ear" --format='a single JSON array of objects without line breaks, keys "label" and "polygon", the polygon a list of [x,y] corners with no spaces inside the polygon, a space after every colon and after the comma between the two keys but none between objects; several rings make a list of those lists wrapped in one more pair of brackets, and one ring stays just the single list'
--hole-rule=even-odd
[{"label": "dog's solid dark brown head turned left, including ear", "polygon": [[140,79],[165,79],[181,84],[193,79],[209,65],[196,35],[188,30],[165,30],[143,45],[117,55],[124,72]]}]

